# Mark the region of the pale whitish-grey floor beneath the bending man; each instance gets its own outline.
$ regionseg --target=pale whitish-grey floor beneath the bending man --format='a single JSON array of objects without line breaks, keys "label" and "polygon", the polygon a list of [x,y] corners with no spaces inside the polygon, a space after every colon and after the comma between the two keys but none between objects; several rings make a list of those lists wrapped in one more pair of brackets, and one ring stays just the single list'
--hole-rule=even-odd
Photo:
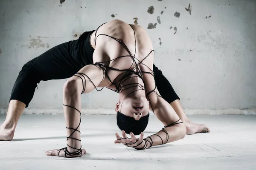
[{"label": "pale whitish-grey floor beneath the bending man", "polygon": [[[0,124],[5,115],[0,115]],[[115,116],[81,117],[80,158],[45,156],[46,150],[66,146],[62,115],[22,115],[11,142],[0,141],[0,170],[256,170],[256,115],[189,116],[206,123],[211,133],[187,135],[184,139],[135,150],[113,144],[119,132]],[[154,115],[145,135],[163,126]]]}]

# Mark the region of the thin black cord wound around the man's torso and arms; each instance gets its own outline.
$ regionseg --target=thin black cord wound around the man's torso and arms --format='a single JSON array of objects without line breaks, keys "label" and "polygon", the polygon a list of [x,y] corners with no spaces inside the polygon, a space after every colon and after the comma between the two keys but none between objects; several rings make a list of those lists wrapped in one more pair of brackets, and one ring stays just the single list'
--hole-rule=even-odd
[{"label": "thin black cord wound around the man's torso and arms", "polygon": [[[105,23],[104,23],[104,24],[105,24]],[[103,25],[103,24],[102,24],[102,25]],[[102,26],[102,25],[101,25],[101,26]],[[131,26],[131,25],[130,25],[130,26]],[[99,27],[100,27],[100,26],[99,26]],[[139,89],[137,89],[137,90],[135,90],[135,91],[140,91],[140,90],[145,91],[145,97],[148,97],[148,95],[151,94],[152,92],[154,92],[157,96],[161,97],[160,94],[157,94],[157,92],[155,91],[156,85],[155,85],[154,89],[151,90],[151,91],[148,91],[148,90],[144,87],[145,82],[144,82],[144,79],[143,79],[143,74],[150,74],[151,76],[154,77],[154,71],[152,71],[147,65],[145,65],[145,64],[143,63],[143,61],[144,61],[154,50],[151,50],[151,51],[149,52],[149,54],[148,54],[146,57],[144,57],[144,58],[140,61],[139,59],[137,59],[137,58],[135,57],[137,42],[136,42],[136,35],[135,35],[135,30],[134,30],[134,28],[131,27],[131,28],[133,29],[133,31],[134,31],[134,40],[135,40],[135,51],[134,51],[134,55],[132,55],[132,54],[131,54],[131,51],[128,49],[128,47],[125,45],[125,43],[124,43],[122,40],[119,40],[119,39],[117,39],[117,38],[115,38],[115,37],[111,37],[111,36],[109,36],[109,35],[107,35],[107,34],[99,34],[99,35],[96,37],[96,34],[97,34],[97,31],[98,31],[99,27],[98,27],[98,28],[96,29],[96,31],[95,31],[95,37],[94,37],[95,45],[96,45],[96,39],[97,39],[97,37],[99,37],[99,35],[105,35],[105,36],[108,36],[108,37],[112,38],[113,40],[116,40],[117,42],[119,42],[119,43],[125,48],[125,50],[129,53],[129,55],[119,56],[119,57],[116,57],[115,59],[111,59],[111,60],[109,60],[109,61],[105,61],[105,62],[95,62],[95,63],[94,63],[95,66],[101,68],[102,71],[103,71],[103,75],[104,75],[104,76],[103,76],[102,81],[104,80],[105,77],[107,77],[108,80],[111,82],[111,85],[114,85],[115,88],[116,88],[115,90],[113,90],[113,89],[111,89],[111,90],[112,90],[112,91],[115,91],[115,92],[117,92],[117,93],[120,93],[120,92],[122,92],[122,91],[124,91],[124,90],[127,90],[128,88],[139,87]],[[122,69],[122,70],[120,70],[120,69],[118,69],[118,68],[112,68],[112,67],[110,67],[110,66],[108,66],[108,65],[104,65],[104,64],[107,63],[107,62],[109,63],[109,62],[111,62],[111,61],[113,61],[113,60],[122,59],[123,57],[130,57],[130,58],[133,60],[131,66],[130,66],[129,68],[127,68],[127,69]],[[137,62],[138,62],[138,63],[137,63]],[[132,66],[134,65],[134,63],[135,63],[135,67],[134,67],[133,69],[131,69]],[[141,71],[140,68],[139,68],[139,65],[144,65],[146,68],[148,68],[149,72],[147,72],[147,71]],[[108,70],[112,70],[112,71],[124,71],[124,75],[123,75],[123,77],[121,77],[121,79],[119,79],[117,82],[112,82],[112,81],[111,81],[111,78],[108,76],[108,73],[107,73]],[[97,91],[101,91],[101,90],[103,89],[103,88],[101,88],[101,89],[98,90],[97,87],[96,87],[96,85],[94,85],[93,81],[92,81],[92,80],[90,79],[90,77],[88,77],[86,74],[84,74],[84,73],[77,73],[77,74],[78,74],[78,75],[74,75],[74,76],[79,77],[79,78],[82,80],[82,93],[81,93],[81,94],[83,94],[83,93],[85,92],[85,90],[86,90],[86,83],[85,83],[85,82],[86,82],[86,77],[87,77],[87,79],[89,80],[89,82],[93,84],[94,88],[95,88]],[[134,76],[131,77],[131,75],[134,75]],[[142,79],[143,85],[141,85],[140,83],[133,83],[133,84],[123,85],[123,86],[122,86],[122,83],[123,83],[123,82],[125,82],[125,81],[128,80],[128,79],[134,78],[134,77],[139,77],[140,79]],[[101,82],[102,82],[102,81],[101,81]],[[130,86],[130,85],[131,85],[131,86]],[[128,86],[128,87],[126,87],[126,86]],[[131,92],[130,94],[134,93],[135,91]],[[128,94],[128,95],[130,95],[130,94]],[[128,96],[128,95],[127,95],[127,96]],[[150,99],[149,99],[149,98],[148,98],[148,100],[149,100],[149,102],[150,102]],[[150,102],[150,104],[151,104],[151,102]],[[63,104],[63,105],[64,105],[64,104]],[[80,132],[79,130],[77,130],[77,129],[79,128],[80,124],[81,124],[81,112],[80,112],[78,109],[74,108],[73,106],[70,106],[70,105],[64,105],[64,106],[73,108],[73,109],[75,109],[76,111],[78,111],[78,112],[80,113],[80,122],[79,122],[78,127],[76,127],[76,128],[73,128],[73,127],[66,127],[67,129],[72,129],[72,130],[74,130],[73,133],[71,133],[71,135],[67,137],[67,140],[73,139],[73,140],[81,141],[81,140],[79,140],[79,139],[76,139],[76,138],[71,137],[76,131],[78,131],[78,132],[81,134],[81,132]],[[153,113],[154,113],[154,108],[152,107],[152,105],[151,105],[151,108],[152,108]],[[179,121],[179,120],[178,120],[178,121]],[[176,122],[174,122],[174,123],[172,123],[172,124],[170,124],[170,125],[168,125],[168,126],[166,126],[166,127],[169,127],[169,126],[172,126],[172,125],[176,125],[176,124],[178,124],[178,123],[177,123],[178,121],[176,121]],[[180,123],[182,123],[182,122],[180,122]],[[165,128],[165,127],[164,127],[164,128]],[[162,144],[167,143],[168,140],[169,140],[169,135],[168,135],[167,131],[166,131],[164,128],[162,129],[162,131],[166,133],[166,141],[165,141],[165,142],[163,142],[163,139],[162,139],[159,135],[154,134],[154,135],[160,137],[160,139],[161,139],[161,141],[162,141]],[[153,136],[153,135],[152,135],[152,136]],[[137,144],[137,145],[134,145],[134,144],[136,144],[136,143],[138,142],[139,139],[137,139],[136,142],[125,143],[125,145],[126,145],[127,147],[134,147],[134,148],[136,148],[136,147],[139,147],[141,144],[143,144],[143,142],[145,142],[145,144],[143,144],[143,147],[137,148],[138,150],[140,150],[140,149],[145,149],[145,148],[148,147],[148,143],[150,144],[150,147],[153,145],[153,140],[151,139],[151,137],[149,136],[148,138],[151,140],[151,142],[150,142],[149,140],[147,140],[147,139],[143,139],[142,142],[140,142],[140,143]],[[126,137],[126,138],[121,138],[121,139],[127,139],[127,137]],[[121,140],[121,139],[117,139],[117,140]],[[130,139],[130,138],[129,138],[129,139]],[[64,148],[62,148],[62,149],[60,149],[60,150],[58,150],[58,151],[60,152],[61,150],[64,150],[64,153],[65,153],[65,156],[66,156],[66,157],[67,157],[67,155],[68,155],[68,156],[79,156],[79,155],[81,156],[81,154],[82,154],[82,152],[81,152],[81,147],[80,147],[80,148],[75,148],[75,147],[71,147],[71,146],[69,146],[69,145],[67,145],[67,146],[70,147],[70,148],[73,148],[73,149],[75,149],[75,150],[77,150],[77,151],[75,151],[75,152],[73,152],[73,153],[70,153],[70,152],[67,150],[67,147],[64,147]],[[59,153],[58,153],[58,154],[59,154]]]}]

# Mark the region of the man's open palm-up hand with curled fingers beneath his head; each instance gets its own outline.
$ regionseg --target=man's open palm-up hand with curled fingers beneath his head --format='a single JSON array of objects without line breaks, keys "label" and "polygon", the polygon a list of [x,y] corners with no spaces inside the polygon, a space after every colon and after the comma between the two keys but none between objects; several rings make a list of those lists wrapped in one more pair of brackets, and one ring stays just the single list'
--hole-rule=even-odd
[{"label": "man's open palm-up hand with curled fingers beneath his head", "polygon": [[135,149],[141,150],[141,149],[147,149],[148,147],[150,147],[150,144],[148,144],[148,142],[143,139],[143,132],[140,133],[140,137],[136,138],[135,135],[133,133],[130,133],[131,138],[128,138],[126,136],[126,133],[124,130],[122,130],[122,137],[119,136],[118,133],[116,133],[116,140],[114,141],[114,143],[116,144],[124,144],[128,147],[133,147]]}]

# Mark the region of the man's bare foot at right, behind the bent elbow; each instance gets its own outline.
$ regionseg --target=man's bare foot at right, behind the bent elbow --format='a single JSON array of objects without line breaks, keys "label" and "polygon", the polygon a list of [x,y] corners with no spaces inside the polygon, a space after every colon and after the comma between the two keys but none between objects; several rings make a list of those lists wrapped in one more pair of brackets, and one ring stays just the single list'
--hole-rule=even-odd
[{"label": "man's bare foot at right, behind the bent elbow", "polygon": [[192,122],[184,122],[186,126],[186,134],[192,135],[194,133],[205,133],[205,132],[210,132],[211,130],[207,125],[204,124],[196,124]]}]

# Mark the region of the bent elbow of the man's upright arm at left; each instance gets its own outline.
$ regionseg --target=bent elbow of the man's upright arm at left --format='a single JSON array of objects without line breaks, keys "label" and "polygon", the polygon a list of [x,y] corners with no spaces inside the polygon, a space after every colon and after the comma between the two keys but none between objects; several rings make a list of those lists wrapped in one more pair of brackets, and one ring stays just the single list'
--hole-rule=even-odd
[{"label": "bent elbow of the man's upright arm at left", "polygon": [[79,79],[74,77],[68,79],[63,86],[64,95],[73,96],[74,94],[79,93],[79,84]]}]

